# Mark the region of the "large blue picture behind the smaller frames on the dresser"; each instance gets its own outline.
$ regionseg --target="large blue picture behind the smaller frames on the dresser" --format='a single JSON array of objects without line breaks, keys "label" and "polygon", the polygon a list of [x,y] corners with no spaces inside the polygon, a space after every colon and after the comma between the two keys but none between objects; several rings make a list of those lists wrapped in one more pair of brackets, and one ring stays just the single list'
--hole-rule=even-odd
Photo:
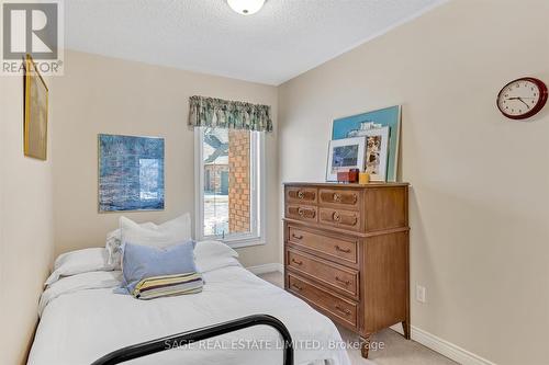
[{"label": "large blue picture behind the smaller frames on the dresser", "polygon": [[365,129],[371,127],[389,127],[386,180],[396,181],[401,132],[400,105],[334,119],[332,139],[358,137]]}]

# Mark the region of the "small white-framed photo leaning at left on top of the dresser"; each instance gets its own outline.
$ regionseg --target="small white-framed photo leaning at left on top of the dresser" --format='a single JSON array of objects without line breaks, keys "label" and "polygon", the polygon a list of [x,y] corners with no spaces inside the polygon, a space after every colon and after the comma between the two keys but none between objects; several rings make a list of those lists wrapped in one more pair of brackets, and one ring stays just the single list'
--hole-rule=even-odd
[{"label": "small white-framed photo leaning at left on top of the dresser", "polygon": [[337,173],[359,169],[363,171],[366,137],[344,138],[329,141],[326,181],[337,181]]}]

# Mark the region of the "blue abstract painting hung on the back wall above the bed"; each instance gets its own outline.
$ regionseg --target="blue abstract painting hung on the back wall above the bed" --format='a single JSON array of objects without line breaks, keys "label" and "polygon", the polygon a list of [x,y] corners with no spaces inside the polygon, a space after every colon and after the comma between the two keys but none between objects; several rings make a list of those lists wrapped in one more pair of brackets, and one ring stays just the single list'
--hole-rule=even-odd
[{"label": "blue abstract painting hung on the back wall above the bed", "polygon": [[99,135],[99,212],[164,209],[164,138]]}]

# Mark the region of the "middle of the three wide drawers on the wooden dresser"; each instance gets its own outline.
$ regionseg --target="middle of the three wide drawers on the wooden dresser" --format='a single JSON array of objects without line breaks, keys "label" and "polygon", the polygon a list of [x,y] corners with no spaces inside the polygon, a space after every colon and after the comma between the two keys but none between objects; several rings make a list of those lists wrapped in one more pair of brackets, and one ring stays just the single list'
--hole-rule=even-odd
[{"label": "middle of the three wide drawers on the wooden dresser", "polygon": [[287,250],[287,263],[292,270],[358,299],[358,271],[291,249]]}]

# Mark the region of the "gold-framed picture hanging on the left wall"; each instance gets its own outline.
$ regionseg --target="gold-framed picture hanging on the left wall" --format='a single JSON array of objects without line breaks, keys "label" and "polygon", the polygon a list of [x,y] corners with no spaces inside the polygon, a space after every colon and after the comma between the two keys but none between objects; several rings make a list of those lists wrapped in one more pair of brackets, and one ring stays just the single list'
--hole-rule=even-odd
[{"label": "gold-framed picture hanging on the left wall", "polygon": [[47,159],[47,85],[30,55],[25,57],[24,153],[38,160]]}]

